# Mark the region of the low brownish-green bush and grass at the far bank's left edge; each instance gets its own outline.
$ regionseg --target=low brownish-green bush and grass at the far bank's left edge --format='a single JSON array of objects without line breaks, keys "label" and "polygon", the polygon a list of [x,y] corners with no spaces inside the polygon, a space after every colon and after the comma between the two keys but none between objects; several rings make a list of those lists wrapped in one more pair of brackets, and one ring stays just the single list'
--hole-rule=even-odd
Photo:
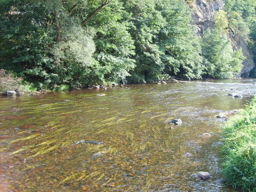
[{"label": "low brownish-green bush and grass at the far bank's left edge", "polygon": [[15,77],[12,73],[6,73],[0,70],[0,94],[4,94],[8,90],[18,89],[21,93],[34,93],[36,89],[30,84],[23,81],[22,78]]}]

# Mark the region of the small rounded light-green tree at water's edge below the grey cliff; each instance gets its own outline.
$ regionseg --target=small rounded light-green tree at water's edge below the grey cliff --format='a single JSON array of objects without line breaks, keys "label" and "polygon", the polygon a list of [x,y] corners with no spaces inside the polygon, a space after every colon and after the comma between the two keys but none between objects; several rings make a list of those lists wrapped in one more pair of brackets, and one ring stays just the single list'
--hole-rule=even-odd
[{"label": "small rounded light-green tree at water's edge below the grey cliff", "polygon": [[242,50],[234,51],[231,40],[218,29],[206,30],[202,38],[205,74],[211,78],[233,78],[242,69]]}]

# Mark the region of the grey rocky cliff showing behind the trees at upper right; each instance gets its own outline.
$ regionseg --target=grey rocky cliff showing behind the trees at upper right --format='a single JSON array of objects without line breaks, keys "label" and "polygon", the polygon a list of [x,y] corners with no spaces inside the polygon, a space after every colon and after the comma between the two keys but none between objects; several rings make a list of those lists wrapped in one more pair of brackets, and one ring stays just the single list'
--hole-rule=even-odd
[{"label": "grey rocky cliff showing behind the trees at upper right", "polygon": [[[195,0],[195,2],[191,4],[192,9],[194,10],[192,14],[193,24],[196,25],[198,29],[198,35],[202,35],[204,30],[214,26],[214,15],[218,10],[222,10],[224,5],[225,0],[213,0],[211,2],[208,0]],[[240,74],[237,74],[237,77],[248,77],[250,71],[254,67],[252,54],[243,39],[239,40],[232,38],[232,36],[230,36],[230,39],[233,42],[234,48],[242,48],[243,54],[246,56],[246,59],[243,62],[244,67]]]}]

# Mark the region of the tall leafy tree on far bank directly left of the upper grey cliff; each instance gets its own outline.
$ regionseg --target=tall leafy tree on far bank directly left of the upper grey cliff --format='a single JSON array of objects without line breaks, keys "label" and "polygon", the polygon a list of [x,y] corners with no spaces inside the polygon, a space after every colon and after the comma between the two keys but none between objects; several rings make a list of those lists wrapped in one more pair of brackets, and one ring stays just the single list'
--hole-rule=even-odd
[{"label": "tall leafy tree on far bank directly left of the upper grey cliff", "polygon": [[166,20],[159,36],[166,73],[186,79],[201,78],[200,41],[190,24],[188,5],[184,0],[164,0],[159,4]]}]

